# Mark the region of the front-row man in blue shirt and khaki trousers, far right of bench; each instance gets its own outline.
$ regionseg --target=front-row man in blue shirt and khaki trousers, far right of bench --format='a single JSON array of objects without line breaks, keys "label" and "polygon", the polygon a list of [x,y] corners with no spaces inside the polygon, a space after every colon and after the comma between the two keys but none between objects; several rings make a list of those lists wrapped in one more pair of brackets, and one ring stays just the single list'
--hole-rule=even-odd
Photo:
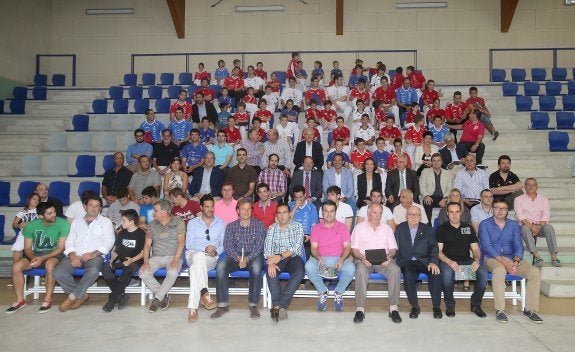
[{"label": "front-row man in blue shirt and khaki trousers, far right of bench", "polygon": [[532,322],[541,324],[539,317],[539,270],[523,259],[523,240],[521,228],[516,221],[507,219],[509,210],[505,200],[493,201],[493,217],[479,224],[479,240],[484,264],[492,273],[491,286],[495,300],[495,319],[507,323],[505,314],[505,275],[517,275],[527,279],[527,297],[525,300],[525,315]]}]

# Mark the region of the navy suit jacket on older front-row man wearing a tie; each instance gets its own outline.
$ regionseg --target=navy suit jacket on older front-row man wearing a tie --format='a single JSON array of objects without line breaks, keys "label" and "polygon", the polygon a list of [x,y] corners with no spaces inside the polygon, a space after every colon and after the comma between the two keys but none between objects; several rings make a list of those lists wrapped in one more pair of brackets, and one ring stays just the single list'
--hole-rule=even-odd
[{"label": "navy suit jacket on older front-row man wearing a tie", "polygon": [[420,222],[415,241],[411,244],[409,225],[404,221],[395,228],[395,240],[398,247],[395,258],[399,267],[404,267],[414,257],[425,266],[429,263],[439,265],[439,247],[431,226]]}]

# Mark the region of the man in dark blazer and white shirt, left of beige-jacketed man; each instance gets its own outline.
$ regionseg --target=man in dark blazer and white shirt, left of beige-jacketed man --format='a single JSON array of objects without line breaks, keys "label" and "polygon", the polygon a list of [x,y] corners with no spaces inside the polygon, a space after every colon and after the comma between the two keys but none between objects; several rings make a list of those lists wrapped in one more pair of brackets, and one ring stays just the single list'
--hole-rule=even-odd
[{"label": "man in dark blazer and white shirt, left of beige-jacketed man", "polygon": [[397,167],[387,173],[385,181],[386,205],[393,211],[399,204],[399,192],[403,189],[410,189],[413,192],[413,201],[419,203],[419,181],[417,173],[411,169],[406,169],[407,161],[405,155],[398,155]]}]

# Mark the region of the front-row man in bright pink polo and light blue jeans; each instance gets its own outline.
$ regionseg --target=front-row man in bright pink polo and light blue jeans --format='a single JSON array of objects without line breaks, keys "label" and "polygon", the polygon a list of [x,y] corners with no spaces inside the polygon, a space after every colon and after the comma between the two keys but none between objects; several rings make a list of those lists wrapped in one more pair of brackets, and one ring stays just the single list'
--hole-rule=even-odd
[{"label": "front-row man in bright pink polo and light blue jeans", "polygon": [[351,236],[347,226],[335,220],[337,205],[325,201],[321,206],[323,222],[311,229],[311,257],[305,263],[305,272],[309,281],[315,286],[319,298],[317,309],[325,310],[327,307],[328,288],[319,275],[319,267],[335,267],[339,272],[339,282],[335,287],[333,308],[343,310],[343,293],[355,273],[355,267],[349,256],[351,253]]}]

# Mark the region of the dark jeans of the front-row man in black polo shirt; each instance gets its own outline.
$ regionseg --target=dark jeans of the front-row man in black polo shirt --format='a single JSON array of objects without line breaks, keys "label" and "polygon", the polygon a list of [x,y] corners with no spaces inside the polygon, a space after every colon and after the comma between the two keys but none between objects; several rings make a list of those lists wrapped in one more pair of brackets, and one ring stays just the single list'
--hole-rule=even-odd
[{"label": "dark jeans of the front-row man in black polo shirt", "polygon": [[[459,265],[470,265],[473,259],[458,262]],[[439,263],[439,268],[441,270],[441,281],[443,286],[443,300],[446,307],[455,307],[455,299],[453,298],[453,286],[455,284],[455,271],[451,269],[449,265],[444,262]],[[470,303],[472,306],[480,306],[481,300],[483,299],[483,294],[485,293],[485,287],[487,287],[487,269],[480,265],[475,272],[475,286],[473,289],[473,294],[471,295]]]}]

